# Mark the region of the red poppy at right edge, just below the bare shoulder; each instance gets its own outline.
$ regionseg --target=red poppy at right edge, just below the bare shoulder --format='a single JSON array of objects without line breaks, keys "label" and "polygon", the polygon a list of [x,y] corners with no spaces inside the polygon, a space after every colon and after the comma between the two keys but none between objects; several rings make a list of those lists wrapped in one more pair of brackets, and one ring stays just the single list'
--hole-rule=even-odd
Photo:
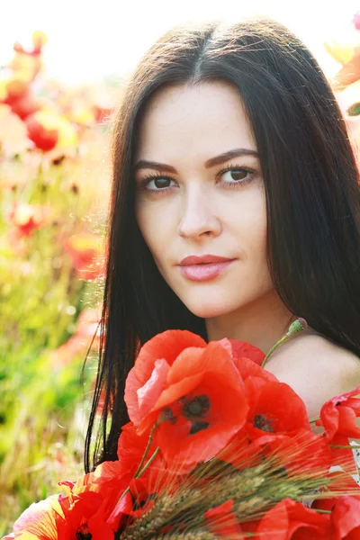
[{"label": "red poppy at right edge, just below the bare shoulder", "polygon": [[[351,392],[341,394],[327,401],[320,410],[317,426],[325,429],[324,437],[332,450],[332,463],[341,465],[348,473],[356,473],[354,455],[348,446],[348,438],[360,437],[356,419],[360,417],[360,400],[354,396],[360,393],[360,386]],[[338,447],[337,447],[338,446]],[[341,447],[345,446],[345,447]]]}]

